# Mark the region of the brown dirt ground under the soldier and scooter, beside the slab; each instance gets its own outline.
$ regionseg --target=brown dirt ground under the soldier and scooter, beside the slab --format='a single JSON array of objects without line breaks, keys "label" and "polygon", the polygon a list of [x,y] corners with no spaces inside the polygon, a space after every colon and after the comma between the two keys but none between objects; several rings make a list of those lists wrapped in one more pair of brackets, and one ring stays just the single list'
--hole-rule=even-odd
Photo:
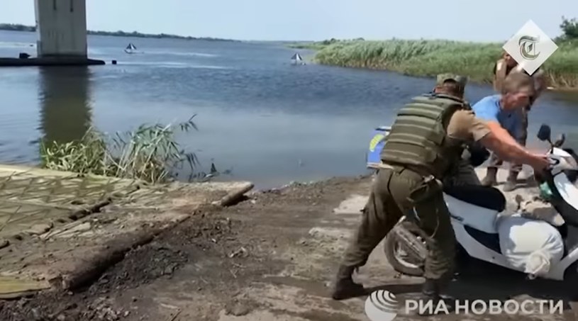
[{"label": "brown dirt ground under the soldier and scooter, beside the slab", "polygon": [[[77,293],[0,303],[0,320],[305,321],[368,320],[363,298],[328,298],[341,254],[360,219],[368,177],[332,179],[251,194],[207,208],[133,250]],[[519,192],[519,191],[518,191]],[[526,191],[527,193],[527,191]],[[565,302],[562,315],[438,315],[404,320],[578,320],[576,286],[526,281],[473,261],[452,283],[458,298]],[[404,298],[422,280],[396,274],[379,245],[355,276]],[[573,288],[572,288],[573,287]],[[569,288],[569,290],[567,290]]]}]

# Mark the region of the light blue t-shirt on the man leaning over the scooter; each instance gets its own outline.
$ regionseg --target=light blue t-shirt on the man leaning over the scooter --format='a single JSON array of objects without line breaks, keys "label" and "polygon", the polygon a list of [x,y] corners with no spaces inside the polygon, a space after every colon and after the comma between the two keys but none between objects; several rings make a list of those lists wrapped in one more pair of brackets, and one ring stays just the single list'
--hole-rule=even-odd
[{"label": "light blue t-shirt on the man leaning over the scooter", "polygon": [[487,96],[472,106],[477,118],[486,121],[495,121],[508,130],[512,137],[521,137],[522,115],[521,110],[504,111],[500,107],[500,95]]}]

